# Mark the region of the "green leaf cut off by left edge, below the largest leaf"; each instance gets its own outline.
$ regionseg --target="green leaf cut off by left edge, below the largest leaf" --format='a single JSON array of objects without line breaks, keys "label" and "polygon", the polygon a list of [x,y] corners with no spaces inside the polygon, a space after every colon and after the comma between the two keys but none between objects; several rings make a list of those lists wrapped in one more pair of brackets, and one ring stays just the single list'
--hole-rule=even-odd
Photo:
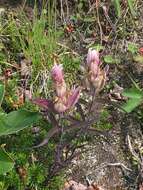
[{"label": "green leaf cut off by left edge, below the largest leaf", "polygon": [[12,158],[8,155],[4,148],[0,147],[0,174],[5,174],[10,171],[13,166],[14,162]]}]

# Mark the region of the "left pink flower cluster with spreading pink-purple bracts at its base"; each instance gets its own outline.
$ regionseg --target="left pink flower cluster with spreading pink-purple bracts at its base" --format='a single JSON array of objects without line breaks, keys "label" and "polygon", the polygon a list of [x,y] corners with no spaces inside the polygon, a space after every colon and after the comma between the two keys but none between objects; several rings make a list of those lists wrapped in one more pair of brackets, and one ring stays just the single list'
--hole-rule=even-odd
[{"label": "left pink flower cluster with spreading pink-purple bracts at its base", "polygon": [[62,65],[55,64],[51,70],[51,76],[56,91],[56,97],[54,101],[47,99],[35,99],[33,103],[50,109],[57,113],[62,113],[72,108],[78,101],[80,96],[80,87],[67,89],[66,82],[64,80],[64,73]]}]

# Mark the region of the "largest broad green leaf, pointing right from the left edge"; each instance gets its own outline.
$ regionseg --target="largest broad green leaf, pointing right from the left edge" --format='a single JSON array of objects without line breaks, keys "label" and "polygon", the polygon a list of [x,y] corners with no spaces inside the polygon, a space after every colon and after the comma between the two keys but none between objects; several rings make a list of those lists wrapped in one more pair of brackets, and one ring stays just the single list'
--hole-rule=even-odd
[{"label": "largest broad green leaf, pointing right from the left edge", "polygon": [[16,133],[40,119],[37,112],[18,110],[9,114],[0,113],[0,136]]}]

